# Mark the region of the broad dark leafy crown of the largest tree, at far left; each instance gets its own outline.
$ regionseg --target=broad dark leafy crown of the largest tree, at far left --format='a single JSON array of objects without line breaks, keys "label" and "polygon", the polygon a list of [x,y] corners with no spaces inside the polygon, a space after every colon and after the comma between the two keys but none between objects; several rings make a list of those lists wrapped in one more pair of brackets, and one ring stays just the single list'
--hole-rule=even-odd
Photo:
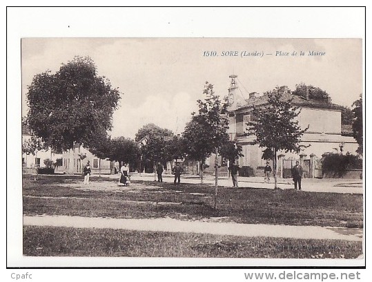
[{"label": "broad dark leafy crown of the largest tree, at far left", "polygon": [[28,86],[26,122],[48,147],[71,149],[75,143],[90,147],[97,132],[112,126],[120,99],[89,57],[75,57],[57,73],[35,75]]}]

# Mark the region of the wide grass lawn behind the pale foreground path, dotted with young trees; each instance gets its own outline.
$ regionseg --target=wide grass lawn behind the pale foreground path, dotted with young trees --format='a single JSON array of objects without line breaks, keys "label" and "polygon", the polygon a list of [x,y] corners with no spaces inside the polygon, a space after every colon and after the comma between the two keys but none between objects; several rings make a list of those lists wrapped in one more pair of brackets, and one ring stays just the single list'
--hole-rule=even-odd
[{"label": "wide grass lawn behind the pale foreground path, dotted with young trees", "polygon": [[[23,178],[23,214],[159,218],[182,220],[222,218],[235,223],[363,227],[363,196],[270,189],[134,182],[116,189],[117,180],[92,178],[96,190],[85,190],[76,176]],[[105,187],[115,187],[106,189]],[[117,187],[118,188],[118,187]]]}]

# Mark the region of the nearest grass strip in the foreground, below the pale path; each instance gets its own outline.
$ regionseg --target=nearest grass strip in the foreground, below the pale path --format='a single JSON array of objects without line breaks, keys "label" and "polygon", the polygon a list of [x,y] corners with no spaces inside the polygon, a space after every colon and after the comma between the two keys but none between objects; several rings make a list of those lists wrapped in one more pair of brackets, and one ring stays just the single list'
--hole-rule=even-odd
[{"label": "nearest grass strip in the foreground, below the pale path", "polygon": [[354,259],[362,242],[23,227],[26,256]]}]

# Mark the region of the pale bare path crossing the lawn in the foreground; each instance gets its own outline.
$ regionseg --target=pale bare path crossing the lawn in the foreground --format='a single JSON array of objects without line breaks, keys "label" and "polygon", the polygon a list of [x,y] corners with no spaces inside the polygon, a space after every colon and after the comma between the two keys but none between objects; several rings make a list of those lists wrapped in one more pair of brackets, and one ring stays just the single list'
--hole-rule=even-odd
[{"label": "pale bare path crossing the lawn in the foreground", "polygon": [[173,218],[124,219],[89,218],[81,216],[23,216],[23,225],[111,228],[159,232],[190,232],[233,236],[266,236],[302,239],[335,239],[362,241],[363,231],[358,228],[263,225],[184,221]]}]

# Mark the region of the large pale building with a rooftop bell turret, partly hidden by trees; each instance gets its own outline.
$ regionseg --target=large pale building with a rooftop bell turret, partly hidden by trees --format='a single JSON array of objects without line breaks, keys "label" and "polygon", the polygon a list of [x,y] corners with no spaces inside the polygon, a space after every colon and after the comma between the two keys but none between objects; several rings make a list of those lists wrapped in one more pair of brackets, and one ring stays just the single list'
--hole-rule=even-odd
[{"label": "large pale building with a rooftop bell turret, partly hidden by trees", "polygon": [[[267,95],[250,93],[249,98],[243,97],[237,84],[237,75],[231,75],[231,85],[228,88],[228,133],[231,140],[242,146],[244,157],[239,158],[239,167],[250,167],[256,174],[262,172],[266,160],[262,159],[264,148],[253,144],[255,136],[246,135],[246,123],[251,121],[253,106],[264,107],[268,102]],[[302,129],[309,129],[302,135],[300,144],[306,145],[299,154],[278,152],[278,175],[289,177],[295,160],[300,160],[304,167],[305,177],[317,177],[320,169],[320,158],[326,152],[342,151],[355,153],[358,143],[353,138],[350,129],[341,124],[342,106],[333,104],[330,99],[310,100],[308,97],[293,95],[286,86],[275,89],[284,100],[293,99],[293,106],[301,109],[297,120]],[[213,159],[213,158],[212,158]],[[222,167],[222,169],[224,169]]]}]

